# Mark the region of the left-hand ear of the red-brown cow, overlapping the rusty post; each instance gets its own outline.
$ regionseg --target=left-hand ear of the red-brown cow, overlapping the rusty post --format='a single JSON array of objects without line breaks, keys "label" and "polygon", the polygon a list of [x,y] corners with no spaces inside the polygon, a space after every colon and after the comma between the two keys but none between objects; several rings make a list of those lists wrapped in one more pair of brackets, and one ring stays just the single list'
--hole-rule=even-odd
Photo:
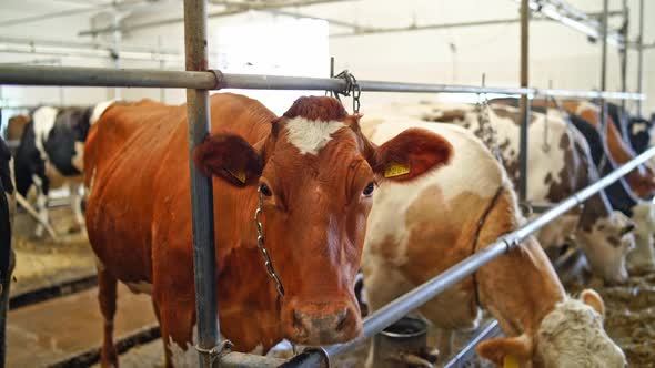
[{"label": "left-hand ear of the red-brown cow, overlapping the rusty post", "polygon": [[234,134],[211,135],[193,150],[193,161],[204,175],[239,187],[256,184],[263,168],[258,151]]}]

